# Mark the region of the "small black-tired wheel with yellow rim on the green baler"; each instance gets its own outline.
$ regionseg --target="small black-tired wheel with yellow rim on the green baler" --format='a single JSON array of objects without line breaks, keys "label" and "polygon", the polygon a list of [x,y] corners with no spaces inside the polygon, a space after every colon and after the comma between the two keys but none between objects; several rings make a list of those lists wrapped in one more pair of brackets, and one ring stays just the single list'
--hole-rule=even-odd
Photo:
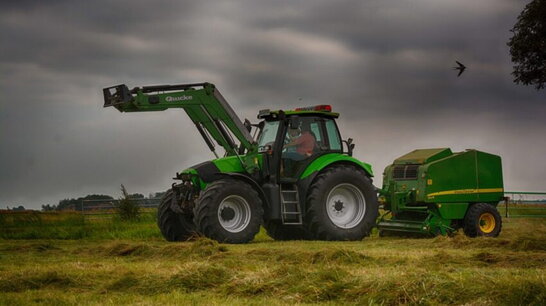
[{"label": "small black-tired wheel with yellow rim on the green baler", "polygon": [[[480,222],[484,216],[494,218],[493,228],[484,231]],[[495,206],[487,203],[470,205],[464,217],[463,231],[468,237],[497,237],[502,229],[502,218]]]}]

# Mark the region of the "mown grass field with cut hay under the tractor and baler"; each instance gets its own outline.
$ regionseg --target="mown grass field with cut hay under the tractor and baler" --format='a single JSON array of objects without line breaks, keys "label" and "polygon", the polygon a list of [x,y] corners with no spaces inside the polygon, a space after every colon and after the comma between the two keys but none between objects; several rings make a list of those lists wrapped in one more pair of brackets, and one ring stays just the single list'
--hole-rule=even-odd
[{"label": "mown grass field with cut hay under the tractor and baler", "polygon": [[247,245],[168,243],[147,219],[85,222],[81,239],[3,230],[0,304],[546,304],[546,219],[505,219],[496,239],[260,232]]}]

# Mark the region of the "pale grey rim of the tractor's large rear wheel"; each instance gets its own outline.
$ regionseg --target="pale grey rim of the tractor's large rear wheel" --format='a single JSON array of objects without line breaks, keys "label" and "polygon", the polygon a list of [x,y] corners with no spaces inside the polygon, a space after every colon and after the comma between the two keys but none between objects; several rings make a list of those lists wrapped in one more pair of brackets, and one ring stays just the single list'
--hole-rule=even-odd
[{"label": "pale grey rim of the tractor's large rear wheel", "polygon": [[350,229],[357,226],[366,213],[362,191],[352,184],[339,184],[326,198],[326,211],[337,227]]}]

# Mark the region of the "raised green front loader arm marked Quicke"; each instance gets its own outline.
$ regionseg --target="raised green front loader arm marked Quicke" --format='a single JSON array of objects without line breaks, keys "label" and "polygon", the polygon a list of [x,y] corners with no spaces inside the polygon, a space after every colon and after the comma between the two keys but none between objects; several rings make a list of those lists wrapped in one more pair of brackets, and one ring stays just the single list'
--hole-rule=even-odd
[{"label": "raised green front loader arm marked Quicke", "polygon": [[211,137],[228,156],[239,156],[241,148],[236,144],[237,140],[246,150],[246,156],[240,157],[245,169],[252,172],[256,167],[251,158],[257,153],[256,142],[214,84],[144,86],[131,90],[122,84],[104,88],[103,94],[104,107],[113,106],[120,112],[183,108],[217,157]]}]

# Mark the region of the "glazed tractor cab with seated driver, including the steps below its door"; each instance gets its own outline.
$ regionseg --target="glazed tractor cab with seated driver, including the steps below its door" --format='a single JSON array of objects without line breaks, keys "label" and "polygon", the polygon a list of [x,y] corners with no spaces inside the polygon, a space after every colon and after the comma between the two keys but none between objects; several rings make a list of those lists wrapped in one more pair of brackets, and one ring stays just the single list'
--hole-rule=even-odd
[{"label": "glazed tractor cab with seated driver, including the steps below its door", "polygon": [[[269,220],[266,221],[268,232],[279,228],[293,231],[295,228],[284,226],[301,225],[302,203],[306,202],[309,186],[320,172],[317,165],[322,165],[321,160],[329,157],[349,157],[343,154],[335,122],[338,117],[330,105],[259,112],[258,119],[263,121],[257,125],[260,132],[256,141],[263,161],[262,189],[269,202],[280,204],[265,215]],[[348,147],[352,150],[354,145],[349,141]]]}]

